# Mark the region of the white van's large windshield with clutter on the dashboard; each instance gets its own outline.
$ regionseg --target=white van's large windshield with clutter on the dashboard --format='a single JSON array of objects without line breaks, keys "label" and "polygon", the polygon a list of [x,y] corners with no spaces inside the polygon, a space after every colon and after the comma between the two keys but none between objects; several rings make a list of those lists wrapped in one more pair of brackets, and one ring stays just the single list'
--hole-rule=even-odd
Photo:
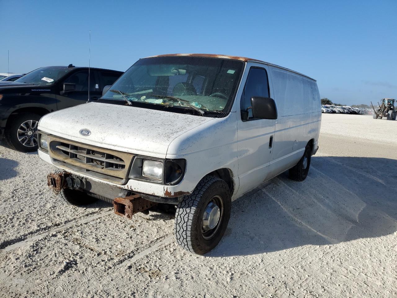
[{"label": "white van's large windshield with clutter on the dashboard", "polygon": [[156,104],[226,112],[243,66],[242,61],[209,57],[144,58],[121,75],[102,99],[125,101],[126,97],[140,107]]}]

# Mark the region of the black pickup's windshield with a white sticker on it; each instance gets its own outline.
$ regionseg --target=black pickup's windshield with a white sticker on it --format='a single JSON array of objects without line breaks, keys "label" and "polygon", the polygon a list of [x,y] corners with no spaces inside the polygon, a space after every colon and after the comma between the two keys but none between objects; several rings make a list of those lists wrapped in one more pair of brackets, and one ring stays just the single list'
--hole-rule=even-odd
[{"label": "black pickup's windshield with a white sticker on it", "polygon": [[15,82],[29,83],[37,86],[52,85],[70,70],[69,68],[42,67],[23,75],[15,80]]}]

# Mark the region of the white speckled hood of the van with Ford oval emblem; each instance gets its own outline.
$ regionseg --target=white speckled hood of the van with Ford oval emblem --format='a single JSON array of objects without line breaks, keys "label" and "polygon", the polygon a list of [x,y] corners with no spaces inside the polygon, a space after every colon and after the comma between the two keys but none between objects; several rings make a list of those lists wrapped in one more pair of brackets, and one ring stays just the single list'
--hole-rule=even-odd
[{"label": "white speckled hood of the van with Ford oval emblem", "polygon": [[[45,115],[39,130],[98,147],[165,157],[173,139],[212,119],[124,104],[86,103]],[[83,129],[91,134],[81,135]]]}]

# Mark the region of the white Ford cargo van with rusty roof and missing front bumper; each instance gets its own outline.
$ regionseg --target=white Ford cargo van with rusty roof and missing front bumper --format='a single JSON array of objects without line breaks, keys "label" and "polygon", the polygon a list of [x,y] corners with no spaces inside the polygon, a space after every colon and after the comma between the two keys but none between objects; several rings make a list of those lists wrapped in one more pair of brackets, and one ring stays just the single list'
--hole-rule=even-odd
[{"label": "white Ford cargo van with rusty roof and missing front bumper", "polygon": [[67,202],[118,215],[173,210],[180,246],[214,248],[231,202],[289,170],[303,181],[318,149],[316,81],[260,60],[172,54],[137,61],[102,97],[47,114],[39,156]]}]

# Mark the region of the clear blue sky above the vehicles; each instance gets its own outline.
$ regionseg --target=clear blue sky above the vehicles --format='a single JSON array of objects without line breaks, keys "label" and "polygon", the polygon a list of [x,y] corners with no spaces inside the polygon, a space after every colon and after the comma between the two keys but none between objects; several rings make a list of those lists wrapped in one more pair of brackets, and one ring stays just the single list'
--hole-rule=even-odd
[{"label": "clear blue sky above the vehicles", "polygon": [[125,71],[167,53],[247,56],[314,77],[321,97],[397,98],[397,0],[0,0],[0,72],[41,66]]}]

